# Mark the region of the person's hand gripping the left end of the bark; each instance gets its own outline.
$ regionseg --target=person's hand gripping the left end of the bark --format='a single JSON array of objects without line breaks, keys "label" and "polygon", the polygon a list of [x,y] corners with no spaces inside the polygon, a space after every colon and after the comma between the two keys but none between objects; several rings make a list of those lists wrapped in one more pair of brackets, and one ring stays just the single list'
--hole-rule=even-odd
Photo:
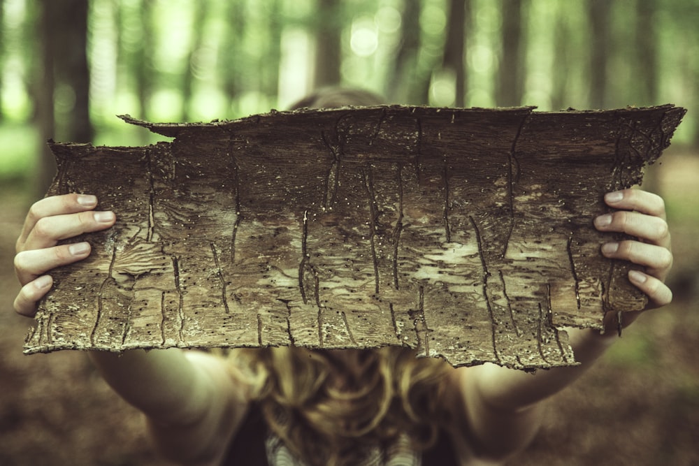
[{"label": "person's hand gripping the left end of the bark", "polygon": [[60,240],[104,230],[115,223],[114,212],[94,211],[96,205],[95,196],[66,194],[43,198],[31,206],[15,245],[15,273],[22,284],[15,298],[17,313],[36,314],[36,303],[53,284],[46,272],[89,256],[89,243],[57,245]]}]

